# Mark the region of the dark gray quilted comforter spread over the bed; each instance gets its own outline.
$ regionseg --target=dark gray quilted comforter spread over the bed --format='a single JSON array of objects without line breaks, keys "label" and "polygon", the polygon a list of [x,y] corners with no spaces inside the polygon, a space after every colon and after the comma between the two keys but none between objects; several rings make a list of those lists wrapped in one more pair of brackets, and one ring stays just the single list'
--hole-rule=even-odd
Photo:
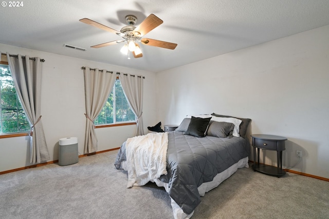
[{"label": "dark gray quilted comforter spread over the bed", "polygon": [[[197,187],[210,182],[222,171],[249,155],[250,144],[243,137],[194,137],[180,131],[168,133],[167,175],[160,180],[169,184],[169,195],[186,213],[191,214],[200,203]],[[125,161],[125,143],[115,166]]]}]

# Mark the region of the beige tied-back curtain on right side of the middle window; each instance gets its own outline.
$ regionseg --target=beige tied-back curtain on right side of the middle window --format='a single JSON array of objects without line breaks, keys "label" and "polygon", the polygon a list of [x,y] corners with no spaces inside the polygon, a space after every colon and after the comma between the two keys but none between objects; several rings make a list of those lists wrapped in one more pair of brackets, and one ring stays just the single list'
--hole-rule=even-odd
[{"label": "beige tied-back curtain on right side of the middle window", "polygon": [[119,74],[124,94],[137,116],[136,136],[143,135],[143,77],[130,74]]}]

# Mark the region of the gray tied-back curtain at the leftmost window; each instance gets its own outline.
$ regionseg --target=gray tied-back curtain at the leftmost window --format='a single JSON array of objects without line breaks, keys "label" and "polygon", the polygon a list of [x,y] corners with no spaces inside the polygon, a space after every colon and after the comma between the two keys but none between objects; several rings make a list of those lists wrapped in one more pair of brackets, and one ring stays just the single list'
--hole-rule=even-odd
[{"label": "gray tied-back curtain at the leftmost window", "polygon": [[42,62],[39,57],[17,56],[7,53],[16,92],[31,126],[30,163],[41,163],[50,160],[41,121]]}]

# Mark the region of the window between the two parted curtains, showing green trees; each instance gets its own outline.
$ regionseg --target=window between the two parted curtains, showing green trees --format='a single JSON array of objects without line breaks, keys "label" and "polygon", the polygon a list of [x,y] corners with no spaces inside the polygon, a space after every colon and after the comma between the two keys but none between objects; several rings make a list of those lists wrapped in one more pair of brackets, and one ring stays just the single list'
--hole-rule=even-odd
[{"label": "window between the two parted curtains, showing green trees", "polygon": [[119,78],[117,78],[111,94],[94,123],[99,126],[132,122],[136,122],[136,115],[124,95]]}]

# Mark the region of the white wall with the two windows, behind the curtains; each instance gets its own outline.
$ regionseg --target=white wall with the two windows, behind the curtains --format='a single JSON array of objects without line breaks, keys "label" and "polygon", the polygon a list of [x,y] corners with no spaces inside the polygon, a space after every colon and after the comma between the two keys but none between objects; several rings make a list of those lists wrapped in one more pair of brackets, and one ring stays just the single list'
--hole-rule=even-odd
[{"label": "white wall with the two windows, behind the curtains", "polygon": [[[153,72],[140,71],[85,59],[13,47],[0,44],[1,52],[22,54],[44,58],[42,78],[42,123],[45,131],[51,160],[58,160],[59,138],[78,137],[79,153],[83,154],[86,118],[84,99],[84,78],[82,66],[106,69],[145,76],[143,123],[156,124],[156,75]],[[80,52],[80,51],[78,51]],[[128,137],[136,133],[136,125],[96,129],[98,150],[118,148]],[[0,172],[25,166],[29,163],[29,137],[0,138]]]}]

